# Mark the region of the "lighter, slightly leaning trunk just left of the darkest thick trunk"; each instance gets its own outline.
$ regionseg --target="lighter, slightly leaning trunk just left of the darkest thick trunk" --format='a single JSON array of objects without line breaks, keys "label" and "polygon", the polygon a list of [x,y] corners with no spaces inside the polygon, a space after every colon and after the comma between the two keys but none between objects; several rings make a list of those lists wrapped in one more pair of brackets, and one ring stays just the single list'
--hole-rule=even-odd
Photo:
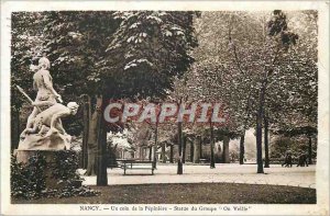
[{"label": "lighter, slightly leaning trunk just left of the darkest thick trunk", "polygon": [[89,128],[88,128],[88,163],[87,163],[87,171],[86,175],[96,175],[97,173],[97,155],[98,155],[98,133],[99,133],[99,125],[100,120],[102,118],[100,107],[101,107],[101,99],[97,98],[97,109],[94,111],[91,118],[89,121]]}]

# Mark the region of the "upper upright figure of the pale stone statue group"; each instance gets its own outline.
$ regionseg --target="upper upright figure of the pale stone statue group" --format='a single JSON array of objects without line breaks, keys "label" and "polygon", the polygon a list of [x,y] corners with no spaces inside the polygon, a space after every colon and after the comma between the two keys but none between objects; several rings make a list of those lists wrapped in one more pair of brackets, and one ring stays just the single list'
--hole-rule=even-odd
[{"label": "upper upright figure of the pale stone statue group", "polygon": [[[48,101],[56,103],[56,99],[62,103],[61,95],[53,88],[53,79],[48,71],[51,62],[46,57],[42,57],[38,60],[37,71],[33,76],[33,89],[37,91],[35,102]],[[46,106],[40,106],[41,110],[45,110]],[[26,129],[22,133],[23,135],[32,127],[32,121],[38,113],[38,109],[34,106],[30,114],[26,123]]]}]

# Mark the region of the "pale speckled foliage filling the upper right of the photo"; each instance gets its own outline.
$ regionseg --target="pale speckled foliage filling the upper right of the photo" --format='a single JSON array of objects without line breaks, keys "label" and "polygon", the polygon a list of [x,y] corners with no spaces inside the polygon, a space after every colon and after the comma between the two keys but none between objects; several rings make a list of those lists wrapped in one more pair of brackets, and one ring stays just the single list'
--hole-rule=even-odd
[{"label": "pale speckled foliage filling the upper right of the photo", "polygon": [[272,70],[265,100],[271,127],[316,127],[316,11],[204,12],[196,31],[199,47],[187,93],[226,103],[231,130],[255,125],[264,70]]}]

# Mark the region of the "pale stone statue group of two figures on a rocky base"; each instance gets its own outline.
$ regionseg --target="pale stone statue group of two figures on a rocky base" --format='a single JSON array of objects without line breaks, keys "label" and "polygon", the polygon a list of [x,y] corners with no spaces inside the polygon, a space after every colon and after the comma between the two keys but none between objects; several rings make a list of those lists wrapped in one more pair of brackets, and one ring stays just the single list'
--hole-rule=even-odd
[{"label": "pale stone statue group of two figures on a rocky base", "polygon": [[19,150],[63,150],[70,148],[72,137],[63,127],[62,118],[75,115],[79,105],[76,102],[62,104],[62,96],[53,87],[50,73],[51,62],[43,56],[33,76],[33,89],[37,91],[36,99],[32,101],[20,88],[19,90],[30,100],[33,111],[26,123],[26,128],[21,134]]}]

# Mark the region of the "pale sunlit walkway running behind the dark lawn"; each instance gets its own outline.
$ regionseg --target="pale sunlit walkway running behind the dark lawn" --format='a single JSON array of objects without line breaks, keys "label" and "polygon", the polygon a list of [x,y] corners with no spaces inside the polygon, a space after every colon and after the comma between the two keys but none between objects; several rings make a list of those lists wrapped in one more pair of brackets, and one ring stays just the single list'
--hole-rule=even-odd
[{"label": "pale sunlit walkway running behind the dark lawn", "polygon": [[[157,183],[205,183],[205,182],[230,182],[248,184],[275,184],[301,187],[316,187],[316,167],[282,168],[273,164],[265,168],[265,174],[256,174],[255,164],[223,164],[217,163],[216,169],[209,166],[184,164],[184,174],[176,174],[176,164],[157,164],[154,175],[142,175],[151,173],[151,170],[128,170],[123,175],[120,168],[108,169],[109,184],[157,184]],[[84,173],[84,170],[79,170]],[[95,185],[96,177],[82,177],[84,184]]]}]

